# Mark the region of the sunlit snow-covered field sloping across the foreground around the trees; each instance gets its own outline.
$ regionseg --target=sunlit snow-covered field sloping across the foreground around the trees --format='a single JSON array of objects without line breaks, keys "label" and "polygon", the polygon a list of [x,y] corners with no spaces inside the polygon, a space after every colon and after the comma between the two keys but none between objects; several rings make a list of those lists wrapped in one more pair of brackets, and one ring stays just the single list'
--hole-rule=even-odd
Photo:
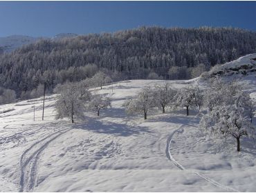
[{"label": "sunlit snow-covered field sloping across the foreground around the trees", "polygon": [[[192,81],[170,81],[183,87]],[[2,105],[0,190],[33,192],[256,192],[256,143],[208,139],[197,112],[127,116],[122,103],[145,85],[123,81],[95,88],[112,107],[72,124],[55,120],[55,98]],[[252,93],[251,96],[256,96]],[[33,121],[35,105],[35,121]],[[9,112],[5,112],[10,110]],[[5,112],[5,113],[3,113]],[[254,120],[256,122],[256,120]]]}]

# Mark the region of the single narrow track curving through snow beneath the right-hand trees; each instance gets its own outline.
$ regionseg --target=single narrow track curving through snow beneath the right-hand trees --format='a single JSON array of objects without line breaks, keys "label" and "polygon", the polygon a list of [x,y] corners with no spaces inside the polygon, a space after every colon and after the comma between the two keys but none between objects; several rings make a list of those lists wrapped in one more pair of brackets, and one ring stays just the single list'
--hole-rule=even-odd
[{"label": "single narrow track curving through snow beneath the right-hand trees", "polygon": [[[171,154],[170,148],[171,148],[171,143],[172,143],[172,138],[174,136],[174,134],[182,134],[183,133],[183,127],[185,125],[181,125],[178,129],[174,130],[174,132],[172,132],[172,134],[170,134],[170,136],[168,136],[167,138],[167,144],[166,144],[166,156],[167,158],[172,161],[172,163],[174,163],[174,165],[176,165],[176,167],[178,167],[180,170],[186,170],[185,167],[183,167],[183,165],[181,165],[181,163],[179,163],[178,161],[176,161],[174,159],[174,157]],[[235,190],[232,187],[228,187],[226,185],[223,185],[221,183],[218,183],[217,181],[214,181],[213,179],[208,178],[207,176],[199,173],[199,172],[192,172],[193,174],[198,175],[199,177],[201,177],[202,179],[204,179],[205,181],[208,181],[210,183],[212,183],[213,185],[221,188],[222,190],[225,190],[226,192],[239,192],[238,190]]]}]

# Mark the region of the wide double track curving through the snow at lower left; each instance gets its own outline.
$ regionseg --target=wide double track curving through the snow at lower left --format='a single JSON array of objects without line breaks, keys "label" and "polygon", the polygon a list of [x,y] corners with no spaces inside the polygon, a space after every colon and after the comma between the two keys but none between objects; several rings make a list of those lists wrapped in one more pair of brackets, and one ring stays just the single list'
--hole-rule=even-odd
[{"label": "wide double track curving through the snow at lower left", "polygon": [[53,132],[25,150],[20,159],[21,179],[19,183],[19,192],[33,191],[37,177],[37,165],[40,155],[49,143],[57,139],[58,136],[68,132],[69,130],[71,129],[63,129],[58,130],[57,132]]}]

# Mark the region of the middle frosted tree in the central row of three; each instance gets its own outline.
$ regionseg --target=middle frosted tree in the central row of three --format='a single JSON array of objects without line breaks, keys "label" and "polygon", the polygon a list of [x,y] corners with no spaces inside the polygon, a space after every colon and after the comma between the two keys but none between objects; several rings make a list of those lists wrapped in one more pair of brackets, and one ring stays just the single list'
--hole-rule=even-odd
[{"label": "middle frosted tree in the central row of three", "polygon": [[153,92],[156,106],[161,108],[162,112],[165,113],[167,106],[174,103],[177,90],[172,88],[170,83],[165,83],[164,85],[156,85]]}]

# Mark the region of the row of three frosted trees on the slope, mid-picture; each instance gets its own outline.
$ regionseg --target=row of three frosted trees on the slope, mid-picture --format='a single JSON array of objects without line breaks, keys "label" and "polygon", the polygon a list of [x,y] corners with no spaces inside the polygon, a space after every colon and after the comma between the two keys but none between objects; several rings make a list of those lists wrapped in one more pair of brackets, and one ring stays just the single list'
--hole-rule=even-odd
[{"label": "row of three frosted trees on the slope, mid-picture", "polygon": [[125,101],[123,106],[129,114],[143,113],[144,119],[150,110],[161,109],[165,113],[167,108],[176,109],[178,107],[186,108],[187,115],[189,109],[201,107],[203,95],[196,86],[188,85],[185,88],[173,88],[170,83],[164,85],[155,85],[141,90],[135,99]]}]

